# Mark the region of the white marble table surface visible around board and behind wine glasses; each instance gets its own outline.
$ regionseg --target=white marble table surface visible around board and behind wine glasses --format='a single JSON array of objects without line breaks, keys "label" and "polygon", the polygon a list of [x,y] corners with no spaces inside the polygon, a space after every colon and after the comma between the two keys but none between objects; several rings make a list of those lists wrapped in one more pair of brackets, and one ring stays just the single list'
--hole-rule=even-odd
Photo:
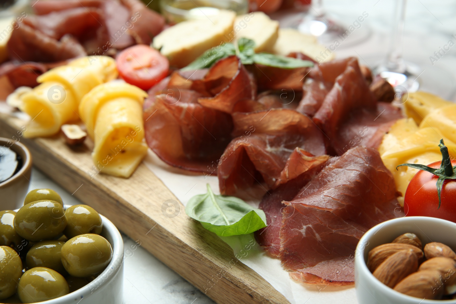
[{"label": "white marble table surface visible around board and behind wine glasses", "polygon": [[[158,1],[158,0],[155,0]],[[363,26],[370,33],[363,43],[337,48],[337,57],[371,55],[382,58],[388,52],[389,32],[392,25],[395,0],[325,0],[327,12],[338,20],[351,24],[358,15],[368,12]],[[430,66],[430,56],[456,34],[455,0],[409,0],[406,14],[404,57],[423,66]],[[372,58],[369,57],[369,58]],[[368,59],[366,59],[368,61]],[[446,52],[436,66],[445,68],[449,77],[456,77],[456,46]],[[432,69],[430,66],[429,69]],[[425,72],[423,72],[425,75]],[[454,98],[454,97],[453,97]],[[79,204],[71,193],[63,190],[38,170],[32,171],[30,190],[52,188],[61,194],[67,204]],[[125,248],[135,242],[124,236]],[[214,303],[205,294],[139,247],[125,252],[124,304],[209,304]]]}]

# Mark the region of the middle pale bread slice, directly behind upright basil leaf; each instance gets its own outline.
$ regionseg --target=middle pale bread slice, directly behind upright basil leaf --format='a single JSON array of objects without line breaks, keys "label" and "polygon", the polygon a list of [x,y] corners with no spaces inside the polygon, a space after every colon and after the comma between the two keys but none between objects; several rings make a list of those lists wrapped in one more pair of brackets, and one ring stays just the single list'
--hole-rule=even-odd
[{"label": "middle pale bread slice, directly behind upright basil leaf", "polygon": [[240,15],[234,21],[234,39],[249,38],[255,41],[255,52],[273,52],[279,37],[279,21],[271,20],[263,12]]}]

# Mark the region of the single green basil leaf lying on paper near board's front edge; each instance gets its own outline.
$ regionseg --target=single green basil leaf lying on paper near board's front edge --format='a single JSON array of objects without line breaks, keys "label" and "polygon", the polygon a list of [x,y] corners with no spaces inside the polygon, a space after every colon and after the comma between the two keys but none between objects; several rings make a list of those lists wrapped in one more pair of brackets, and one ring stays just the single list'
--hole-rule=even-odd
[{"label": "single green basil leaf lying on paper near board's front edge", "polygon": [[188,216],[202,227],[222,237],[249,234],[266,227],[266,216],[234,196],[215,195],[209,184],[207,193],[193,196],[185,207]]}]

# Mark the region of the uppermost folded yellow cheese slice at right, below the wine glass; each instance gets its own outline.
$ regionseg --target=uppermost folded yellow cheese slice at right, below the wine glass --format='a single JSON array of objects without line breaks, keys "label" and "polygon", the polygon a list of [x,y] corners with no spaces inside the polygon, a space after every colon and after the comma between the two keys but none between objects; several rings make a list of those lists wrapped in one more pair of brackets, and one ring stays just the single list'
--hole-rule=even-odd
[{"label": "uppermost folded yellow cheese slice at right, below the wine glass", "polygon": [[434,94],[422,91],[408,93],[404,95],[403,100],[405,100],[405,114],[413,118],[417,124],[420,124],[423,118],[433,110],[453,104]]}]

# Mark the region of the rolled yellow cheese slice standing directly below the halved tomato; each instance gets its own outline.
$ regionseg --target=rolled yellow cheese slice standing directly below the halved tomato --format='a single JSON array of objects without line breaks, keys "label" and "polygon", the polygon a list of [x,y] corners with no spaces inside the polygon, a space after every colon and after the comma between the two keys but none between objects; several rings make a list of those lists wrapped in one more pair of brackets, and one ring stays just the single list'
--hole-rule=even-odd
[{"label": "rolled yellow cheese slice standing directly below the halved tomato", "polygon": [[147,93],[121,81],[100,84],[79,104],[81,119],[95,145],[98,171],[128,178],[147,153],[142,104]]}]

